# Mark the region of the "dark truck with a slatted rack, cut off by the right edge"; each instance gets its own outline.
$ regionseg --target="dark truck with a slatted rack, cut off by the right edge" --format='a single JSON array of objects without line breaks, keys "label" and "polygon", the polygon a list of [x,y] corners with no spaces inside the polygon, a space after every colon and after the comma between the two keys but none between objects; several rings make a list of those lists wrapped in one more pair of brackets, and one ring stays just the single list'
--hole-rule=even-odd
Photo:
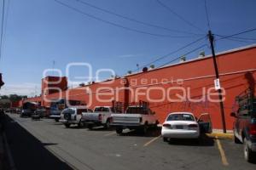
[{"label": "dark truck with a slatted rack, cut off by the right edge", "polygon": [[256,98],[250,90],[236,97],[238,109],[230,116],[234,122],[234,140],[244,144],[244,158],[249,162],[256,161]]}]

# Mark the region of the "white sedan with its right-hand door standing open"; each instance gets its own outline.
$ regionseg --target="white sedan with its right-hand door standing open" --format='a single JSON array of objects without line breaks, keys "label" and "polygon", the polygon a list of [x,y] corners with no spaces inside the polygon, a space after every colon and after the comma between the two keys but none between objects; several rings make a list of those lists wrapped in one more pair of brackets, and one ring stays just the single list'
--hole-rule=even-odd
[{"label": "white sedan with its right-hand door standing open", "polygon": [[[206,113],[202,116],[209,117]],[[170,113],[161,130],[165,142],[170,139],[199,139],[201,133],[212,133],[211,121],[204,122],[201,118],[197,121],[193,113],[190,112]]]}]

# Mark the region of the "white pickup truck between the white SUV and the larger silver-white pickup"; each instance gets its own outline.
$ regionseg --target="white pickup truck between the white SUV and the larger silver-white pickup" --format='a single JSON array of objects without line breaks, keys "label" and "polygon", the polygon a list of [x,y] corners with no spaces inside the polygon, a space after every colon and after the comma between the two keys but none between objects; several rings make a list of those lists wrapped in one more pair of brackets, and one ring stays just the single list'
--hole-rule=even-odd
[{"label": "white pickup truck between the white SUV and the larger silver-white pickup", "polygon": [[93,113],[84,113],[83,120],[89,129],[102,125],[108,129],[110,127],[110,117],[113,113],[110,106],[96,106]]}]

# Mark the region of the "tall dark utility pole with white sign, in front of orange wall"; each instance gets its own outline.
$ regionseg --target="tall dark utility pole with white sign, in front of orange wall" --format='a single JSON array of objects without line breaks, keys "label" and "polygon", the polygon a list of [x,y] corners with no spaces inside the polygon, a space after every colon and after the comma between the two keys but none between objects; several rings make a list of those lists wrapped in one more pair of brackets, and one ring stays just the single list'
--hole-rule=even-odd
[{"label": "tall dark utility pole with white sign, in front of orange wall", "polygon": [[[213,59],[213,65],[214,65],[216,80],[218,80],[219,79],[218,65],[217,65],[217,62],[216,62],[215,50],[214,50],[214,46],[213,46],[214,37],[212,35],[212,31],[208,31],[208,38],[209,38],[209,41],[211,43],[212,59]],[[225,115],[224,115],[224,104],[223,104],[223,100],[222,100],[223,97],[222,97],[221,88],[218,88],[218,99],[219,99],[219,106],[220,106],[220,112],[221,112],[221,121],[222,121],[223,132],[227,133]]]}]

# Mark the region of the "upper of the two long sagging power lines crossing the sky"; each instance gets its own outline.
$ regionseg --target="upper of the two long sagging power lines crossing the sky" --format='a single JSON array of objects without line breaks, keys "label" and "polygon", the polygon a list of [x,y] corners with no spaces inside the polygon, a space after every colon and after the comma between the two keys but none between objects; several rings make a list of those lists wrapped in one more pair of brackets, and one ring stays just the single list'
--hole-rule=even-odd
[{"label": "upper of the two long sagging power lines crossing the sky", "polygon": [[166,30],[166,31],[174,31],[174,32],[185,33],[185,34],[196,35],[196,36],[200,35],[200,34],[196,34],[196,33],[189,32],[189,31],[180,31],[180,30],[175,30],[175,29],[167,28],[167,27],[164,27],[164,26],[157,26],[157,25],[154,25],[154,24],[150,24],[148,22],[144,22],[144,21],[141,21],[141,20],[136,20],[136,19],[130,18],[130,17],[125,16],[123,14],[114,13],[113,11],[110,11],[110,10],[108,10],[106,8],[97,7],[96,5],[93,5],[91,3],[86,3],[86,2],[81,1],[81,0],[75,0],[75,1],[77,1],[79,3],[83,3],[84,5],[87,5],[87,6],[91,7],[91,8],[96,8],[98,10],[101,10],[101,11],[105,12],[105,13],[113,14],[113,15],[119,17],[119,18],[122,18],[122,19],[125,19],[125,20],[130,20],[130,21],[142,24],[144,26],[151,26],[151,27],[162,29],[162,30]]}]

